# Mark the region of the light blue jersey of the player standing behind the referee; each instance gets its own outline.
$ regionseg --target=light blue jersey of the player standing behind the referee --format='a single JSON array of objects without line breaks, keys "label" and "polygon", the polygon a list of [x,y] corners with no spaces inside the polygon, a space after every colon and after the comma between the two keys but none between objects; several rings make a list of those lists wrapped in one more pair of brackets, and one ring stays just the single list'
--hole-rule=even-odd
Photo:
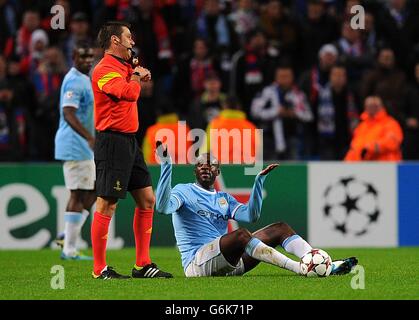
[{"label": "light blue jersey of the player standing behind the referee", "polygon": [[55,159],[91,160],[93,151],[86,139],[74,131],[64,119],[65,106],[77,109],[76,116],[93,135],[93,90],[89,77],[71,68],[64,77],[60,92],[60,124],[55,135]]}]

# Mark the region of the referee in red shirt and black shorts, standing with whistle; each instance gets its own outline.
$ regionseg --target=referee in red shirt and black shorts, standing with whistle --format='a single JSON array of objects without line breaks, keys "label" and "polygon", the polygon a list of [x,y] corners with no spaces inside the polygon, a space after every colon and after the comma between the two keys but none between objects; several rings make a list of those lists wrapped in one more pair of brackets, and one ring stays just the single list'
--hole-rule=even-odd
[{"label": "referee in red shirt and black shorts, standing with whistle", "polygon": [[106,264],[109,223],[118,199],[129,191],[136,203],[134,236],[136,263],[133,278],[171,278],[151,262],[149,248],[155,197],[151,176],[138,147],[137,100],[141,81],[150,81],[149,70],[131,66],[132,39],[130,25],[108,22],[99,31],[98,42],[105,55],[92,74],[95,99],[96,142],[96,212],[92,223],[93,278],[125,279]]}]

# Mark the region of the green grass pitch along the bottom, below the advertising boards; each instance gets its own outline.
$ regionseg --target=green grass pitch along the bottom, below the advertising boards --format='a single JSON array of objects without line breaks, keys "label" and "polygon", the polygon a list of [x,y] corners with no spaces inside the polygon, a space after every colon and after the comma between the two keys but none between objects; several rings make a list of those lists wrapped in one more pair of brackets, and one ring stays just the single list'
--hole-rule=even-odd
[{"label": "green grass pitch along the bottom, below the advertising boards", "polygon": [[[261,263],[241,277],[185,278],[175,248],[153,247],[153,260],[173,279],[100,281],[91,278],[90,261],[62,261],[57,250],[0,251],[0,299],[419,299],[419,248],[327,249],[334,258],[357,256],[365,289],[352,289],[361,274],[305,278]],[[86,252],[87,253],[87,252]],[[107,260],[130,274],[135,250],[109,250]],[[53,290],[54,265],[64,267],[65,289]],[[353,278],[354,276],[358,278]]]}]

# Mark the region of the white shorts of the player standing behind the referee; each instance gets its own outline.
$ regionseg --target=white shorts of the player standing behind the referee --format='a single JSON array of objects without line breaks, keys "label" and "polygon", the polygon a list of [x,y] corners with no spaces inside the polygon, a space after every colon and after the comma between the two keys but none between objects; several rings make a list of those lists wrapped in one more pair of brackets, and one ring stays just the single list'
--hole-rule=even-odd
[{"label": "white shorts of the player standing behind the referee", "polygon": [[94,160],[71,160],[63,164],[65,186],[69,190],[94,190],[96,169]]}]

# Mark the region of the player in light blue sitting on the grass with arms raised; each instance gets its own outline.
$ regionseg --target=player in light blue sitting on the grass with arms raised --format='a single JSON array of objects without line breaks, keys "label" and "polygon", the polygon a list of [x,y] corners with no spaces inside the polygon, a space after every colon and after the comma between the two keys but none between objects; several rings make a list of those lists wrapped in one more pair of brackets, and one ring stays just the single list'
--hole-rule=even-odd
[{"label": "player in light blue sitting on the grass with arms raised", "polygon": [[[256,176],[246,205],[237,202],[230,194],[214,189],[220,166],[218,160],[208,153],[196,159],[196,182],[178,184],[172,189],[171,158],[163,145],[158,144],[162,171],[157,185],[156,209],[160,213],[172,214],[186,277],[242,275],[261,261],[300,273],[300,262],[274,249],[281,245],[299,259],[312,249],[286,223],[273,223],[254,233],[245,228],[227,233],[228,219],[243,222],[259,219],[263,183],[278,164],[268,165]],[[333,261],[331,274],[346,274],[357,263],[354,257]]]}]

